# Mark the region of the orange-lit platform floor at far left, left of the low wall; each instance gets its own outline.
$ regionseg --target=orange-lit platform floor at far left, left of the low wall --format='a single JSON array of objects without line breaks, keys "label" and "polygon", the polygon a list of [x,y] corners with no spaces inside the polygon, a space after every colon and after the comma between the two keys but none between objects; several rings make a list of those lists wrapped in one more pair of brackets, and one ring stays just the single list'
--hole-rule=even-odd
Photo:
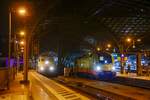
[{"label": "orange-lit platform floor at far left, left of the low wall", "polygon": [[17,73],[15,79],[10,82],[10,88],[0,90],[0,100],[31,100],[29,85],[20,84],[22,78],[22,73]]}]

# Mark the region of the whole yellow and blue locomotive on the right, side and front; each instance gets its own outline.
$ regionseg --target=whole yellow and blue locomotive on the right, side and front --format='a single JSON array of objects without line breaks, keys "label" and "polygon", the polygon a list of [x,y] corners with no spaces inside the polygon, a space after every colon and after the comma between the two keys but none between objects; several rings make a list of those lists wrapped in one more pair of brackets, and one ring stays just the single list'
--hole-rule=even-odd
[{"label": "whole yellow and blue locomotive on the right, side and front", "polygon": [[100,80],[111,80],[116,76],[111,54],[106,52],[92,53],[76,60],[76,72],[79,76],[94,77]]}]

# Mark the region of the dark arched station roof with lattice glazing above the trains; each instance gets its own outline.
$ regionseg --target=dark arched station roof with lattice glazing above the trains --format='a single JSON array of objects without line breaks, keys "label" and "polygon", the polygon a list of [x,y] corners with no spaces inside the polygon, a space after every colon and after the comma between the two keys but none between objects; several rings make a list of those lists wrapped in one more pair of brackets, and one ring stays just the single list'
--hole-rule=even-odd
[{"label": "dark arched station roof with lattice glazing above the trains", "polygon": [[[93,35],[100,39],[107,38],[110,41],[112,36],[116,39],[134,36],[142,38],[145,46],[149,45],[149,0],[47,0],[40,2],[34,0],[34,2],[37,3],[39,16],[42,15],[41,13],[44,14],[35,33],[51,33],[49,37],[56,38],[64,36],[65,39],[68,37],[69,41],[80,41],[85,35]],[[74,40],[69,39],[71,37],[74,37]]]}]

